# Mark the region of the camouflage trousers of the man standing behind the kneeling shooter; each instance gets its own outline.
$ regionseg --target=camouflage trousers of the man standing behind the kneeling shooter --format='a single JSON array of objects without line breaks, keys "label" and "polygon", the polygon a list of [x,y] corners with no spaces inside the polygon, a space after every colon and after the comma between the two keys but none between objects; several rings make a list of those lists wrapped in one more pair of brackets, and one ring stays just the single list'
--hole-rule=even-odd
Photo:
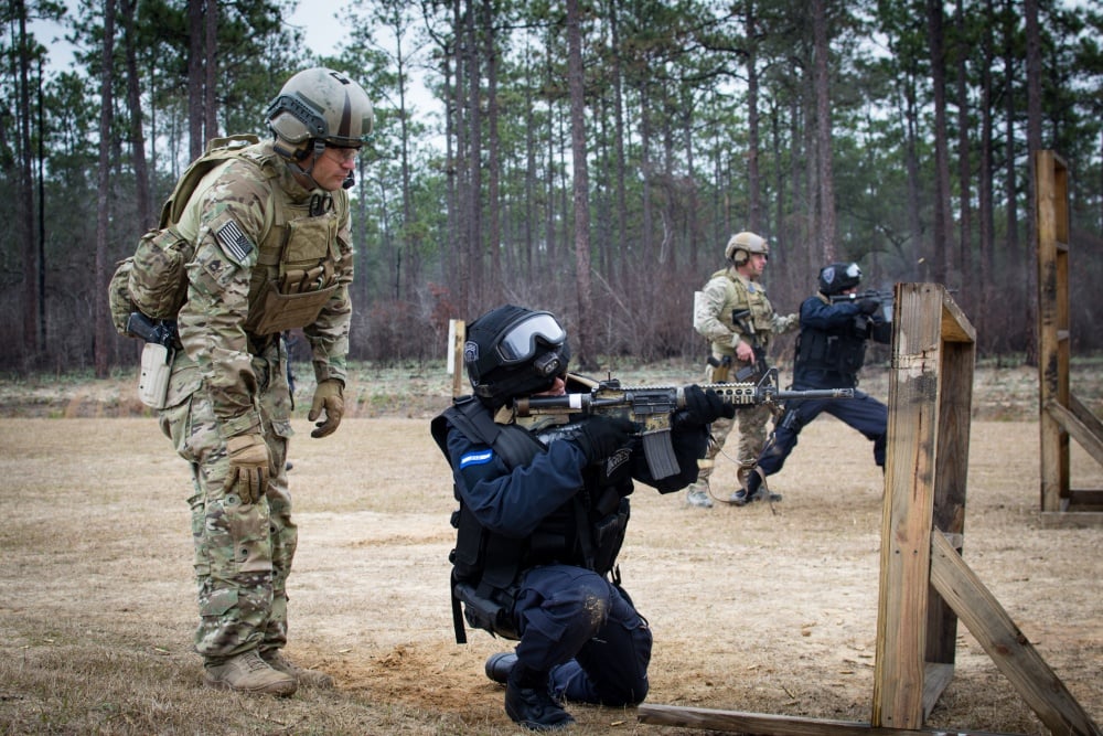
[{"label": "camouflage trousers of the man standing behind the kneeling shooter", "polygon": [[242,503],[236,482],[226,487],[226,441],[202,386],[160,412],[161,430],[191,466],[194,492],[188,505],[200,608],[195,651],[211,664],[287,642],[286,586],[298,530],[291,522],[287,479],[287,444],[292,433],[286,361],[278,342],[253,359],[257,404],[272,463],[268,491],[256,503]]}]

